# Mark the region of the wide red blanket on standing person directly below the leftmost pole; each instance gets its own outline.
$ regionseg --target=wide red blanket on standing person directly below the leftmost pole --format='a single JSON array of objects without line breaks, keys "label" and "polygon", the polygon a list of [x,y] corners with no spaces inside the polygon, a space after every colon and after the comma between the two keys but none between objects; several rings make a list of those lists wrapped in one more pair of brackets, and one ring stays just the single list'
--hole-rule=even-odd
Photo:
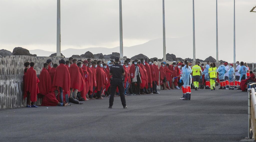
[{"label": "wide red blanket on standing person directly below the leftmost pole", "polygon": [[63,94],[67,94],[70,90],[70,75],[68,68],[64,64],[60,64],[56,68],[52,86],[61,87],[65,91]]}]

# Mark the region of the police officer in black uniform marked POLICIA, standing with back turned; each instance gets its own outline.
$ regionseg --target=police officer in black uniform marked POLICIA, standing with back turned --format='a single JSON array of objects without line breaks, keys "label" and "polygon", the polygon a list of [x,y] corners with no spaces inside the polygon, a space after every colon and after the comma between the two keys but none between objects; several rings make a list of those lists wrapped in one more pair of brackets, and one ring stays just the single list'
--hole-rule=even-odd
[{"label": "police officer in black uniform marked POLICIA, standing with back turned", "polygon": [[110,89],[110,98],[109,98],[109,108],[112,108],[114,102],[114,95],[116,87],[120,92],[120,98],[123,105],[123,108],[127,108],[124,96],[124,68],[122,65],[119,65],[119,57],[115,57],[115,64],[110,68],[109,74],[112,75],[111,79],[111,89]]}]

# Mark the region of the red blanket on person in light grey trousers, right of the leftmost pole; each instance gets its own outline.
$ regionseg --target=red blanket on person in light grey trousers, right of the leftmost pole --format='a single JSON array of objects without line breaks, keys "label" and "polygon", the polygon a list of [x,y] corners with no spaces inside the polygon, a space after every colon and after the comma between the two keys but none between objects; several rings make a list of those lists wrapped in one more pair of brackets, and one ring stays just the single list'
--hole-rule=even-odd
[{"label": "red blanket on person in light grey trousers, right of the leftmost pole", "polygon": [[70,65],[68,71],[70,74],[70,88],[77,89],[78,92],[81,92],[84,88],[84,80],[77,64]]}]

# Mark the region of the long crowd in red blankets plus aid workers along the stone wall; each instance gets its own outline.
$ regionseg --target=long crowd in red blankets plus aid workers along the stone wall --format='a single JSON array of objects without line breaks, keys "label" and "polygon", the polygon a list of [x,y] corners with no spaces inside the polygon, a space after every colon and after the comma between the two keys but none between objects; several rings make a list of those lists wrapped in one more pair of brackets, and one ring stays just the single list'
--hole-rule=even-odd
[{"label": "long crowd in red blankets plus aid workers along the stone wall", "polygon": [[[42,99],[41,106],[71,106],[70,103],[82,104],[86,100],[110,97],[114,63],[114,60],[105,63],[70,57],[67,61],[61,59],[59,64],[53,64],[48,59],[37,78],[35,63],[25,62],[24,99],[27,98],[27,107],[38,107],[35,105],[37,98]],[[191,85],[195,90],[204,84],[205,89],[215,90],[215,84],[219,82],[219,89],[237,90],[241,80],[255,78],[243,62],[236,62],[236,69],[227,62],[220,63],[217,69],[216,63],[210,61],[206,65],[196,61],[192,67],[188,60],[172,64],[161,62],[158,66],[157,59],[147,58],[121,60],[118,64],[124,69],[122,83],[125,96],[159,94],[157,86],[161,85],[163,90],[181,89],[183,96],[180,99],[190,100]],[[115,96],[119,96],[119,89],[114,90]]]}]

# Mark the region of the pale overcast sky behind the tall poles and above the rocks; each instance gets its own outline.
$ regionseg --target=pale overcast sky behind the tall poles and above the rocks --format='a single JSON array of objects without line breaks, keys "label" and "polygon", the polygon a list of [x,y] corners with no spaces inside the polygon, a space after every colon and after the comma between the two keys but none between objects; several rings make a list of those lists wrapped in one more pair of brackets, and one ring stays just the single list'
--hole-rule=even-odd
[{"label": "pale overcast sky behind the tall poles and above the rocks", "polygon": [[[240,61],[256,62],[256,13],[249,12],[255,5],[256,0],[236,0],[236,59]],[[162,0],[123,0],[122,9],[123,46],[163,37]],[[165,16],[166,37],[188,43],[183,49],[168,43],[167,53],[187,58],[182,52],[188,51],[193,58],[192,0],[165,0]],[[0,0],[0,49],[56,51],[56,17],[57,0]],[[233,61],[233,0],[218,0],[218,29],[219,59]],[[215,0],[195,0],[195,30],[196,58],[216,58]],[[62,50],[118,46],[119,0],[61,0]]]}]

